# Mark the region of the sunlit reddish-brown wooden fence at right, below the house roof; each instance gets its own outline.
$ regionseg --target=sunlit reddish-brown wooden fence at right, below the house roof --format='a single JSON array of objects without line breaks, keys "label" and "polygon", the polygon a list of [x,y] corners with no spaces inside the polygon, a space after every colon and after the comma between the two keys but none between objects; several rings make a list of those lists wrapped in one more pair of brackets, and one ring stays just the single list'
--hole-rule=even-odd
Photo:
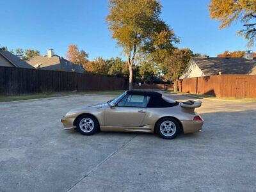
[{"label": "sunlit reddish-brown wooden fence at right, below the house roof", "polygon": [[180,92],[216,97],[256,98],[256,76],[218,75],[180,80]]}]

